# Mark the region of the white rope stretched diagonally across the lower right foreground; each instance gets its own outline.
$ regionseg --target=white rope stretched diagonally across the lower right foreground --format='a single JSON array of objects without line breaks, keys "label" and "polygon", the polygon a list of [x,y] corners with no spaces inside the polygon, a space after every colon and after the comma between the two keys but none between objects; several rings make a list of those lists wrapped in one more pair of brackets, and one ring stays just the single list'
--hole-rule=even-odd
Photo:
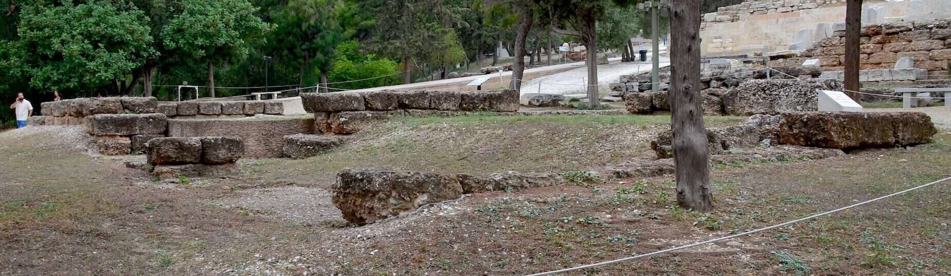
[{"label": "white rope stretched diagonally across the lower right foreground", "polygon": [[564,269],[546,271],[546,272],[535,273],[535,274],[530,274],[530,275],[526,275],[526,276],[552,275],[552,274],[556,274],[556,273],[564,273],[564,272],[568,272],[568,271],[574,271],[574,270],[592,268],[592,267],[597,267],[597,266],[607,266],[607,265],[611,265],[611,264],[615,264],[615,263],[621,263],[621,262],[631,261],[631,260],[634,260],[634,259],[639,259],[639,258],[644,258],[644,257],[650,257],[650,256],[653,256],[653,255],[659,255],[659,254],[663,254],[663,253],[667,253],[667,252],[671,252],[671,251],[677,251],[677,250],[687,249],[687,248],[689,248],[689,247],[703,246],[703,245],[712,244],[712,243],[716,243],[716,242],[720,242],[720,241],[726,241],[726,240],[729,240],[729,239],[739,238],[739,237],[742,237],[742,236],[747,236],[747,235],[750,235],[750,234],[753,234],[753,233],[757,233],[757,232],[761,232],[761,231],[766,231],[766,230],[769,230],[769,229],[774,229],[774,228],[778,228],[778,227],[786,227],[786,226],[788,226],[788,225],[792,225],[792,224],[795,224],[795,223],[799,223],[799,222],[803,222],[803,221],[815,219],[815,218],[822,217],[822,216],[825,216],[825,215],[829,215],[829,214],[841,212],[841,211],[844,211],[844,210],[847,210],[847,209],[850,209],[850,208],[861,207],[861,206],[864,206],[864,205],[867,205],[867,204],[870,204],[870,203],[873,203],[873,202],[877,202],[877,201],[880,201],[880,200],[883,200],[883,199],[886,199],[886,198],[889,198],[889,197],[894,197],[894,196],[897,196],[897,195],[902,195],[902,194],[904,194],[904,193],[908,193],[908,192],[913,191],[913,190],[916,190],[916,189],[920,189],[920,188],[923,188],[923,187],[931,187],[931,186],[934,186],[934,185],[939,184],[939,183],[941,183],[941,182],[947,181],[947,180],[949,180],[949,179],[951,179],[951,177],[947,177],[947,178],[944,178],[944,179],[941,179],[941,180],[938,180],[938,181],[935,181],[935,182],[932,182],[932,183],[928,183],[928,184],[925,184],[925,185],[922,185],[922,186],[919,186],[919,187],[912,187],[912,188],[909,188],[909,189],[905,189],[905,190],[902,190],[902,191],[899,191],[899,192],[896,192],[896,193],[892,193],[892,194],[885,195],[885,196],[882,196],[882,197],[878,197],[878,198],[875,198],[875,199],[867,200],[867,201],[864,201],[864,202],[861,202],[861,203],[857,203],[857,204],[854,204],[854,205],[850,205],[850,206],[847,206],[847,207],[837,208],[837,209],[834,209],[834,210],[830,210],[830,211],[826,211],[826,212],[823,212],[823,213],[819,213],[819,214],[807,216],[807,217],[805,217],[805,218],[801,218],[801,219],[794,220],[794,221],[789,221],[789,222],[782,223],[782,224],[778,224],[778,225],[774,225],[774,226],[771,226],[771,227],[763,227],[763,228],[759,228],[759,229],[755,229],[755,230],[751,230],[751,231],[746,231],[746,232],[739,233],[739,234],[735,234],[735,235],[729,235],[729,236],[722,237],[722,238],[712,239],[712,240],[708,240],[708,241],[706,241],[706,242],[700,242],[700,243],[690,244],[690,245],[687,245],[687,246],[677,246],[677,247],[672,247],[672,248],[668,248],[668,249],[664,249],[664,250],[660,250],[660,251],[650,252],[650,253],[647,253],[647,254],[640,254],[640,255],[637,255],[637,256],[631,256],[631,257],[627,257],[627,258],[621,258],[621,259],[616,259],[616,260],[601,262],[601,263],[597,263],[597,264],[591,264],[591,265],[585,265],[585,266],[574,266],[574,267],[570,267],[570,268],[564,268]]}]

